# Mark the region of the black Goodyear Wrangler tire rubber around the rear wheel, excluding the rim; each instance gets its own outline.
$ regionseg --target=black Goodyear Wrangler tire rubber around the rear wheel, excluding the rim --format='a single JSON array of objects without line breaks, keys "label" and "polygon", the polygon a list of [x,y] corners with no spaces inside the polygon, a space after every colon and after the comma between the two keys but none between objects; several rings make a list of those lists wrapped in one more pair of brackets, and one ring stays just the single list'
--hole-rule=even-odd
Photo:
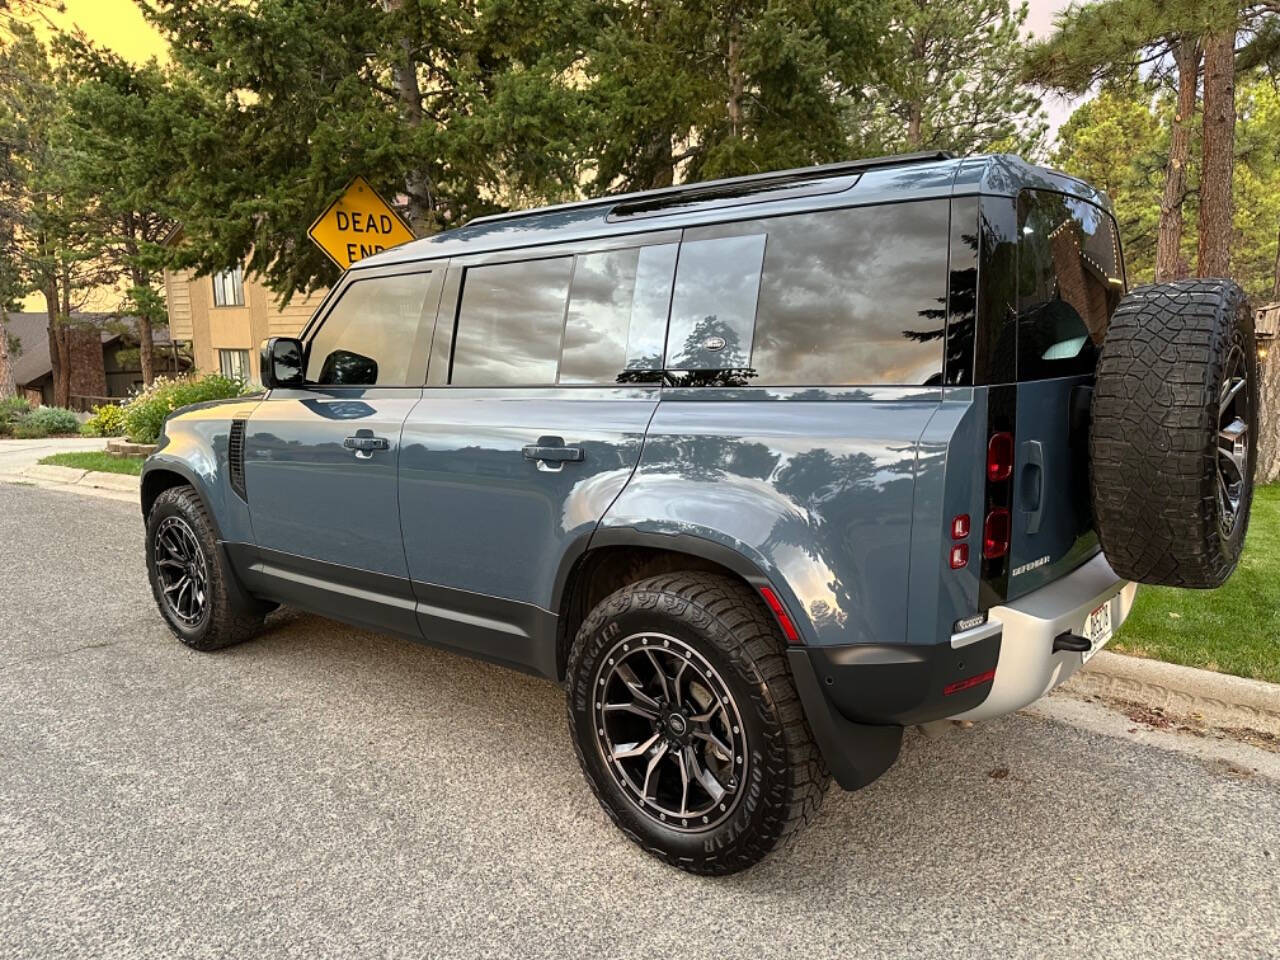
[{"label": "black Goodyear Wrangler tire rubber around the rear wheel, excluding the rim", "polygon": [[[620,637],[678,639],[724,681],[742,719],[746,781],[723,822],[669,828],[625,794],[605,765],[595,730],[595,686]],[[605,813],[654,856],[690,873],[742,870],[814,819],[831,774],[814,744],[787,666],[785,644],[763,603],[744,584],[704,572],[664,573],[622,588],[588,616],[568,657],[570,732]]]}]

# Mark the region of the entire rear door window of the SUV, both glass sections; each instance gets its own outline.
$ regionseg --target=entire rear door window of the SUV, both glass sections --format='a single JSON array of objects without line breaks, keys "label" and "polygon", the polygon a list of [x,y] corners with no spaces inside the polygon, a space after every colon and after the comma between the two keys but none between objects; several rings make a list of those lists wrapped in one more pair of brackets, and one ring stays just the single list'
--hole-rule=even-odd
[{"label": "entire rear door window of the SUV, both glass sections", "polygon": [[675,265],[666,243],[468,268],[449,381],[657,380]]}]

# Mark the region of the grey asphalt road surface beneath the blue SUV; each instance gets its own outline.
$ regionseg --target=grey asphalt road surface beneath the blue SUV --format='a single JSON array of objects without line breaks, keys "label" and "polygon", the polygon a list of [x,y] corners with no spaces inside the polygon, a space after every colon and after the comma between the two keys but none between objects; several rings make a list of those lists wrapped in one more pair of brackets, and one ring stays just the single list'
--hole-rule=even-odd
[{"label": "grey asphalt road surface beneath the blue SUV", "polygon": [[141,557],[0,484],[0,956],[1280,956],[1267,777],[1019,714],[703,879],[608,824],[556,686],[288,612],[191,653]]}]

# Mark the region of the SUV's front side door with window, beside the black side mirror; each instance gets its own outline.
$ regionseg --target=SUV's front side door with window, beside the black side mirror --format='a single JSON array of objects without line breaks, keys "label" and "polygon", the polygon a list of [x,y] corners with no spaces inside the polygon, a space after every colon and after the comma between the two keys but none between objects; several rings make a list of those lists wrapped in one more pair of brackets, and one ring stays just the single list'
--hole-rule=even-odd
[{"label": "SUV's front side door with window, beside the black side mirror", "polygon": [[417,635],[396,474],[443,279],[443,265],[349,273],[305,334],[306,385],[250,417],[251,576],[268,595]]}]

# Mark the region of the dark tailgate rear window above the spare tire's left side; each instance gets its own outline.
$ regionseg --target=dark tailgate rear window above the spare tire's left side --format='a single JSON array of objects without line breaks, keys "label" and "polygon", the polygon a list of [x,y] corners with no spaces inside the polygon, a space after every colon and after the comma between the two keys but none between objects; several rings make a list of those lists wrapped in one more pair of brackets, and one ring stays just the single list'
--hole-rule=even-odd
[{"label": "dark tailgate rear window above the spare tire's left side", "polygon": [[1110,214],[1075,197],[1018,198],[1018,379],[1092,374],[1124,294]]}]

